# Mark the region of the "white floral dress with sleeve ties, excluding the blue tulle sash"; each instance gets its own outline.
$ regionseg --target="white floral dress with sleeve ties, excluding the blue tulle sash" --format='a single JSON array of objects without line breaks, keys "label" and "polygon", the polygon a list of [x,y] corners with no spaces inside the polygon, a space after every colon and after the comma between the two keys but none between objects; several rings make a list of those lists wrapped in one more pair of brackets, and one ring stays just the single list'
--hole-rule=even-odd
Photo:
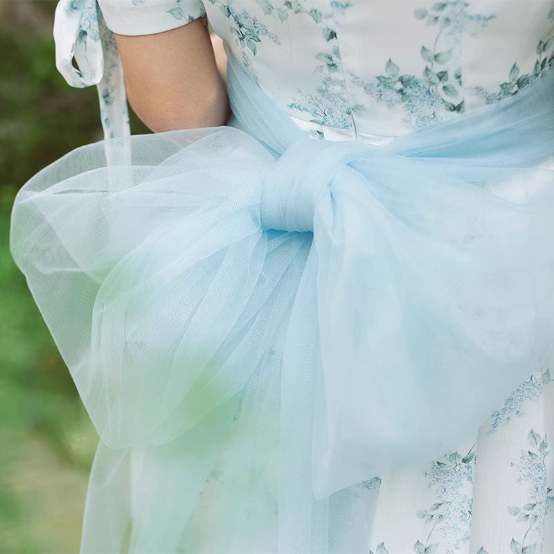
[{"label": "white floral dress with sleeve ties, excluding the blue tulle sash", "polygon": [[[75,23],[55,29],[58,67],[75,86],[98,84],[106,136],[129,128],[114,40],[98,17],[144,35],[207,15],[314,139],[382,145],[502,102],[554,66],[553,0],[60,0],[58,9]],[[360,483],[352,526],[370,537],[361,552],[554,553],[551,370],[529,368],[454,452]]]}]

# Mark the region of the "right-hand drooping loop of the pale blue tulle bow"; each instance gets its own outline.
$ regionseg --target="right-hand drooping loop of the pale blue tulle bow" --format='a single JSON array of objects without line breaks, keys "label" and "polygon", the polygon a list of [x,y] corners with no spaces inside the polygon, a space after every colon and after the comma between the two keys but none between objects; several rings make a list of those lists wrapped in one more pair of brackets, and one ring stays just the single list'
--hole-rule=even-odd
[{"label": "right-hand drooping loop of the pale blue tulle bow", "polygon": [[316,208],[316,497],[452,452],[554,352],[552,170],[458,164],[355,161]]}]

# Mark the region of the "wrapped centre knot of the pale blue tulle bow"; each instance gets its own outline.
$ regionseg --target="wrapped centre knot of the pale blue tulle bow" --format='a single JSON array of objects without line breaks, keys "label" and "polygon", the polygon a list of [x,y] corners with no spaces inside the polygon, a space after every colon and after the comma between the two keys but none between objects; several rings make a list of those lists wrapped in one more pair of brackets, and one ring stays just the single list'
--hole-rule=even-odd
[{"label": "wrapped centre knot of the pale blue tulle bow", "polygon": [[[373,147],[375,148],[375,147]],[[262,227],[314,231],[314,214],[332,179],[349,163],[366,157],[371,145],[355,141],[295,141],[274,164],[262,189]]]}]

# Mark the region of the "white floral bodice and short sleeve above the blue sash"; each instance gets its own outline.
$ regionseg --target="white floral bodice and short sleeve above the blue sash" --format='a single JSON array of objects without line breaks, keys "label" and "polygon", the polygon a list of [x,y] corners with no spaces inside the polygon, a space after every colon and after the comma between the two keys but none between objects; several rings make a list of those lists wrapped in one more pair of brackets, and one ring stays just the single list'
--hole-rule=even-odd
[{"label": "white floral bodice and short sleeve above the blue sash", "polygon": [[383,143],[499,102],[551,68],[552,0],[99,0],[138,35],[207,13],[313,136]]}]

